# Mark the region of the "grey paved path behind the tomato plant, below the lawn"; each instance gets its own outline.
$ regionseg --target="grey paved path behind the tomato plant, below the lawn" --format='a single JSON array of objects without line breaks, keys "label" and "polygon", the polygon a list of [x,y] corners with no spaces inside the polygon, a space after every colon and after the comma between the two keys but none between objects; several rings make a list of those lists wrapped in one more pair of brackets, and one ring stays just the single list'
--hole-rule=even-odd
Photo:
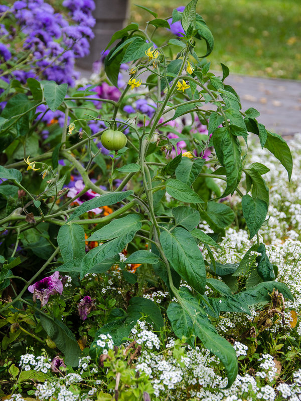
[{"label": "grey paved path behind the tomato plant, below the lawn", "polygon": [[[78,71],[90,77],[90,71]],[[243,111],[254,107],[260,112],[258,121],[268,130],[286,137],[301,132],[301,81],[230,74],[225,84],[236,90]]]}]

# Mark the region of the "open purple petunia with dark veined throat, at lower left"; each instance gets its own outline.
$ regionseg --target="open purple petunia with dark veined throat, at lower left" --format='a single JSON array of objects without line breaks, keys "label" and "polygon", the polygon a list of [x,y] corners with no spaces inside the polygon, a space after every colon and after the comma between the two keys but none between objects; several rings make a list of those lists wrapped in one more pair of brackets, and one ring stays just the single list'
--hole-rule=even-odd
[{"label": "open purple petunia with dark veined throat, at lower left", "polygon": [[60,272],[54,272],[51,276],[45,277],[35,284],[28,287],[28,291],[33,293],[33,300],[41,300],[41,306],[44,306],[49,301],[50,295],[62,294],[63,284],[59,280]]}]

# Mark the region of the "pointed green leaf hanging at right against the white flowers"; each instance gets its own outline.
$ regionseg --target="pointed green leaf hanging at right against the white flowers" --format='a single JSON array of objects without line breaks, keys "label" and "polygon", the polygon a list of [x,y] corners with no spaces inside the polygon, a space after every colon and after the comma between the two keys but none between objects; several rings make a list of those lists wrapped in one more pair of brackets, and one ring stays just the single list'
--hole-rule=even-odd
[{"label": "pointed green leaf hanging at right against the white flowers", "polygon": [[250,195],[244,195],[242,197],[241,206],[243,217],[245,218],[250,232],[250,240],[262,226],[266,218],[268,207],[264,200],[259,198],[253,199]]}]

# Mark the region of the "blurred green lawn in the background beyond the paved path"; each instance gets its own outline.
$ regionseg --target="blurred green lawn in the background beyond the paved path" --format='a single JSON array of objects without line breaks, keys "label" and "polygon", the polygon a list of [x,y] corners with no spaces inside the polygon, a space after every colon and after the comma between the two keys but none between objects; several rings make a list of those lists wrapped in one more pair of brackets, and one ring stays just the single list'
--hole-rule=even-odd
[{"label": "blurred green lawn in the background beyond the paved path", "polygon": [[[142,24],[153,17],[134,4],[166,18],[174,8],[188,4],[188,0],[131,3],[131,20]],[[197,12],[215,40],[213,53],[207,58],[211,69],[221,70],[222,62],[232,73],[301,79],[300,0],[200,0]],[[199,42],[197,53],[204,48],[203,41]]]}]

